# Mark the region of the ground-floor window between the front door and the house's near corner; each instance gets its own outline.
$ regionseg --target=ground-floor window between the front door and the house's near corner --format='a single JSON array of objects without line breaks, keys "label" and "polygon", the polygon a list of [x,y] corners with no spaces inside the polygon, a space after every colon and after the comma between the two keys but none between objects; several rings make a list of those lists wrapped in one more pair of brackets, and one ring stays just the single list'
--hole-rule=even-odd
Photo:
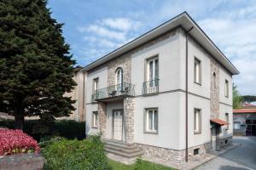
[{"label": "ground-floor window between the front door and the house's near corner", "polygon": [[146,109],[144,117],[145,133],[157,133],[158,131],[158,109]]}]

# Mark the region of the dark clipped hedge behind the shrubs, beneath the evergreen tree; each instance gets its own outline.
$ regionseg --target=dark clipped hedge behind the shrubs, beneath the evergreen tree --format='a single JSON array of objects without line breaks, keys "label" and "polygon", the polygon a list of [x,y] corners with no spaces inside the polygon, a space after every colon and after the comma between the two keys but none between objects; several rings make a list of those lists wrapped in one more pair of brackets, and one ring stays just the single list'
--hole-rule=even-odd
[{"label": "dark clipped hedge behind the shrubs, beneath the evergreen tree", "polygon": [[[0,127],[15,128],[13,120],[1,120]],[[85,139],[85,122],[73,120],[56,120],[47,122],[42,120],[27,120],[24,123],[24,133],[38,141],[51,136],[61,136],[67,139]]]}]

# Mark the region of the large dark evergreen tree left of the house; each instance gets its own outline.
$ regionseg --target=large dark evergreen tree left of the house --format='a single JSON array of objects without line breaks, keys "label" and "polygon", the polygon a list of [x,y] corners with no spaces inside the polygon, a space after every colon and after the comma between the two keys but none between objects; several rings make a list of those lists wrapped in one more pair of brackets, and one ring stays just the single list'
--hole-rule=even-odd
[{"label": "large dark evergreen tree left of the house", "polygon": [[46,0],[0,0],[0,111],[15,116],[68,116],[74,60]]}]

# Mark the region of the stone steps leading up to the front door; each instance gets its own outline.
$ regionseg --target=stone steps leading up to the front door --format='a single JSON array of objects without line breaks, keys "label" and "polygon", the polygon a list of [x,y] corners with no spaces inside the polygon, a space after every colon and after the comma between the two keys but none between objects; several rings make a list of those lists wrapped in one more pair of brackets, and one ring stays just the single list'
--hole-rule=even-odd
[{"label": "stone steps leading up to the front door", "polygon": [[143,150],[140,150],[135,144],[126,144],[125,142],[112,139],[102,139],[102,142],[105,145],[105,151],[107,153],[127,158],[143,155]]}]

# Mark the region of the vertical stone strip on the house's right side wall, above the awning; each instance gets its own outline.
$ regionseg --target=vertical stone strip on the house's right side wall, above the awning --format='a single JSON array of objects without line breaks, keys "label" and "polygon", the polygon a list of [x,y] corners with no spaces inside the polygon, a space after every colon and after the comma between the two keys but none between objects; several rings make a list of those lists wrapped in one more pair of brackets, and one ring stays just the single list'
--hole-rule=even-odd
[{"label": "vertical stone strip on the house's right side wall, above the awning", "polygon": [[[210,91],[210,99],[211,99],[211,118],[218,118],[219,112],[219,65],[217,61],[211,59],[210,61],[211,67],[211,91]],[[216,80],[214,81],[213,74],[216,74]]]}]

